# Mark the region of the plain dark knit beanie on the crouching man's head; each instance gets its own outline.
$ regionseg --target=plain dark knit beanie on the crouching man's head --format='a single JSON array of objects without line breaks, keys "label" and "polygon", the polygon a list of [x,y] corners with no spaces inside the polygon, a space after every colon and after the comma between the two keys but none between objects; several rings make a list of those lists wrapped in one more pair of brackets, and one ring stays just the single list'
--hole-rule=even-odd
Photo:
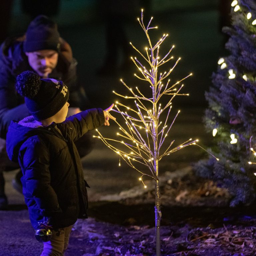
[{"label": "plain dark knit beanie on the crouching man's head", "polygon": [[57,24],[47,16],[39,15],[28,26],[26,39],[23,43],[24,52],[39,50],[60,50]]}]

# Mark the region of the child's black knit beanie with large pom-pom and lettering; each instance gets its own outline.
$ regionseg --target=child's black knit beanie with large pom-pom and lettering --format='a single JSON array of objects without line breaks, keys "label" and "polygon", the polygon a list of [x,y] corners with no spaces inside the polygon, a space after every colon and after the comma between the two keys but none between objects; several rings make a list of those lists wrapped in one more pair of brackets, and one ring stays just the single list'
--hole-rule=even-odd
[{"label": "child's black knit beanie with large pom-pom and lettering", "polygon": [[58,113],[69,97],[68,87],[60,80],[40,79],[33,71],[17,76],[17,92],[25,97],[29,112],[38,121]]}]

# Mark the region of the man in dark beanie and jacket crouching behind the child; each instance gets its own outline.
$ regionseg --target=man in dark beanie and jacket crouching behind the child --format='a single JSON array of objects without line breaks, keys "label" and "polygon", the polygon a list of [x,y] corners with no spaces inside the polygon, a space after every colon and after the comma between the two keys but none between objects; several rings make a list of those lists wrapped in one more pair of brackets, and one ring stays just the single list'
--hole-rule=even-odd
[{"label": "man in dark beanie and jacket crouching behind the child", "polygon": [[[55,78],[68,85],[70,110],[80,112],[86,95],[77,86],[77,62],[70,45],[59,36],[57,25],[39,15],[28,26],[25,35],[8,38],[0,48],[0,209],[7,207],[3,170],[14,169],[5,152],[5,137],[11,120],[19,121],[30,115],[24,99],[15,90],[16,77],[25,70],[35,71],[41,78]],[[83,152],[84,153],[84,152]],[[16,167],[18,168],[18,167]],[[14,180],[19,186],[21,173]]]}]

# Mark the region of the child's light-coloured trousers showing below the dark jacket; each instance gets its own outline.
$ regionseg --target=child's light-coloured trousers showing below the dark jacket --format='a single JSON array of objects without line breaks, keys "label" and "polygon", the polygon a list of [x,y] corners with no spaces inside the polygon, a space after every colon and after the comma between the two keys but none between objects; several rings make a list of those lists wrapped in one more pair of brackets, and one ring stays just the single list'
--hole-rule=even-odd
[{"label": "child's light-coloured trousers showing below the dark jacket", "polygon": [[62,256],[68,247],[72,226],[53,230],[52,239],[44,242],[44,249],[40,256]]}]

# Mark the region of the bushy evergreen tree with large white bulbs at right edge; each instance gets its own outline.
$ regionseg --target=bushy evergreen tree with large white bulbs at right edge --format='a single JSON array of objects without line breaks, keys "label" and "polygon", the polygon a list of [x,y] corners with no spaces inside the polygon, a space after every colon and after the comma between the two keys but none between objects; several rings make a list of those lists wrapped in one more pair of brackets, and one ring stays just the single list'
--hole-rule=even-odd
[{"label": "bushy evergreen tree with large white bulbs at right edge", "polygon": [[217,142],[211,152],[219,161],[202,160],[196,169],[200,176],[227,187],[233,196],[230,205],[235,206],[255,199],[255,165],[249,164],[256,155],[251,149],[256,147],[255,0],[233,1],[231,27],[223,32],[230,36],[226,43],[230,55],[218,61],[206,92],[209,108],[204,117],[206,129]]}]

